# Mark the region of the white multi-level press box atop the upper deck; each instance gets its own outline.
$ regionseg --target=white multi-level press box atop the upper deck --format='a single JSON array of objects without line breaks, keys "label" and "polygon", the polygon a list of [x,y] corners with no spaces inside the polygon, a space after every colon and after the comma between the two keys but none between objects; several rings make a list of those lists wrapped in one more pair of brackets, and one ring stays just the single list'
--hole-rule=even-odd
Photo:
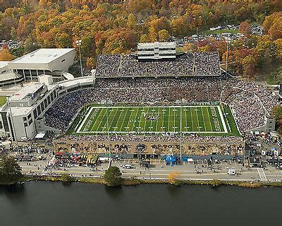
[{"label": "white multi-level press box atop the upper deck", "polygon": [[137,45],[138,60],[176,59],[176,42],[147,42]]}]

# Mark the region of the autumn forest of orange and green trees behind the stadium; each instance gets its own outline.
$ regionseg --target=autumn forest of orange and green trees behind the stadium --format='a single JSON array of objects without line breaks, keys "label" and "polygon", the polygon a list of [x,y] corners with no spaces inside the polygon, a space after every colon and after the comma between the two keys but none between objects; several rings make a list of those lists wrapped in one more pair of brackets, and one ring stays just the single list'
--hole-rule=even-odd
[{"label": "autumn forest of orange and green trees behind the stadium", "polygon": [[[247,78],[272,73],[277,82],[282,80],[281,9],[280,0],[0,0],[0,40],[21,43],[11,51],[3,48],[0,60],[39,47],[76,48],[81,39],[83,63],[92,69],[98,54],[130,53],[137,42],[240,24],[244,36],[231,42],[228,52],[231,72]],[[262,25],[264,35],[252,35],[252,24]],[[219,51],[226,59],[226,43],[212,38],[186,44],[183,50]]]}]

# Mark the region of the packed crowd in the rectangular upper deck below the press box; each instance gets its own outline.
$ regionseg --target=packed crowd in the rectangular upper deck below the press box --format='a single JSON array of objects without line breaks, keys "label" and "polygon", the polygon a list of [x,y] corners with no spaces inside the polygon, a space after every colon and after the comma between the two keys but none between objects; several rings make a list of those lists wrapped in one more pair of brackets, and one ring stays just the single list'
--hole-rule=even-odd
[{"label": "packed crowd in the rectangular upper deck below the press box", "polygon": [[175,60],[138,61],[131,55],[100,55],[97,77],[216,76],[220,74],[217,52],[183,54]]}]

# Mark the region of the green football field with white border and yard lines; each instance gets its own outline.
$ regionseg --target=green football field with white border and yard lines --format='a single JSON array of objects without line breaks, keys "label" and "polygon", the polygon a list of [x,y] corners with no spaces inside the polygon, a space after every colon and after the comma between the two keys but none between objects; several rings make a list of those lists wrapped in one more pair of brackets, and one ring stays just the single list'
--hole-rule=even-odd
[{"label": "green football field with white border and yard lines", "polygon": [[226,123],[219,105],[103,106],[88,107],[75,133],[228,133]]}]

